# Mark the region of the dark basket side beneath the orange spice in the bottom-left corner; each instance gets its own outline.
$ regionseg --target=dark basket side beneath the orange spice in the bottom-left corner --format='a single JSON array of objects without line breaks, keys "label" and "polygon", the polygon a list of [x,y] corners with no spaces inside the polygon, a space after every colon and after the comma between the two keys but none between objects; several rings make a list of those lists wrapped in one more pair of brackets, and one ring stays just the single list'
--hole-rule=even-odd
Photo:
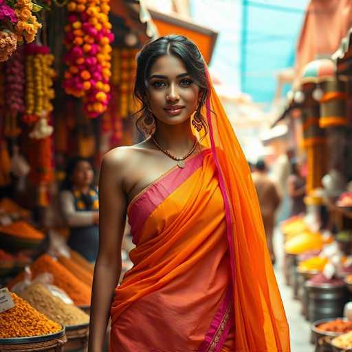
[{"label": "dark basket side beneath the orange spice in the bottom-left corner", "polygon": [[63,352],[67,342],[65,328],[57,333],[29,338],[0,338],[1,352]]}]

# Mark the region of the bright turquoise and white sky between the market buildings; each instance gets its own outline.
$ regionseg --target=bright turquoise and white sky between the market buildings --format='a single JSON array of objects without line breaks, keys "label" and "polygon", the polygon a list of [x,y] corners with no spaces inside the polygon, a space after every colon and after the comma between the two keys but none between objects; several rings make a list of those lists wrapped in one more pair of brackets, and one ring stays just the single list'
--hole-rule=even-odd
[{"label": "bright turquoise and white sky between the market buildings", "polygon": [[276,87],[275,72],[294,65],[308,0],[190,3],[192,18],[219,32],[210,67],[230,89],[270,104]]}]

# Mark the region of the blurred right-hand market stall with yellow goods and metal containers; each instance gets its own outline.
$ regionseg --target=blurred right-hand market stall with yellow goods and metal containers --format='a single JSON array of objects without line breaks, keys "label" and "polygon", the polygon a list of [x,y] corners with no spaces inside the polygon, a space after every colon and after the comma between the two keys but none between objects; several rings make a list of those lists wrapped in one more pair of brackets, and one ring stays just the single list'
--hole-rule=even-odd
[{"label": "blurred right-hand market stall with yellow goods and metal containers", "polygon": [[283,222],[281,232],[287,284],[319,352],[352,348],[350,39],[351,30],[331,58],[306,65],[278,119],[295,109],[303,131],[307,212]]}]

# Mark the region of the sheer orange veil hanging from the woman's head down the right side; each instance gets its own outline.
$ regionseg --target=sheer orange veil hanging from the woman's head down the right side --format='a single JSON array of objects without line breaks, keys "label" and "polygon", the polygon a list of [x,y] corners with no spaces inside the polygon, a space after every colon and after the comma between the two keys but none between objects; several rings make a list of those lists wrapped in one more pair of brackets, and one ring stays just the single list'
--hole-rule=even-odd
[{"label": "sheer orange veil hanging from the woman's head down the right side", "polygon": [[206,144],[217,164],[230,245],[237,352],[290,351],[289,328],[267,250],[261,210],[250,168],[217,96],[203,107]]}]

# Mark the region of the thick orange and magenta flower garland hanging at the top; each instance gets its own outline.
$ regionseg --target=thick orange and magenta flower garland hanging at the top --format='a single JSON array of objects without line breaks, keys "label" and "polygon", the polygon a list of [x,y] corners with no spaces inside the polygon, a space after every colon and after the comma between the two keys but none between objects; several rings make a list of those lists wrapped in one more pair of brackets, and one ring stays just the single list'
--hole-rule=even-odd
[{"label": "thick orange and magenta flower garland hanging at the top", "polygon": [[72,0],[67,9],[63,87],[67,94],[83,98],[87,115],[95,118],[107,109],[110,99],[110,44],[114,36],[109,0]]}]

